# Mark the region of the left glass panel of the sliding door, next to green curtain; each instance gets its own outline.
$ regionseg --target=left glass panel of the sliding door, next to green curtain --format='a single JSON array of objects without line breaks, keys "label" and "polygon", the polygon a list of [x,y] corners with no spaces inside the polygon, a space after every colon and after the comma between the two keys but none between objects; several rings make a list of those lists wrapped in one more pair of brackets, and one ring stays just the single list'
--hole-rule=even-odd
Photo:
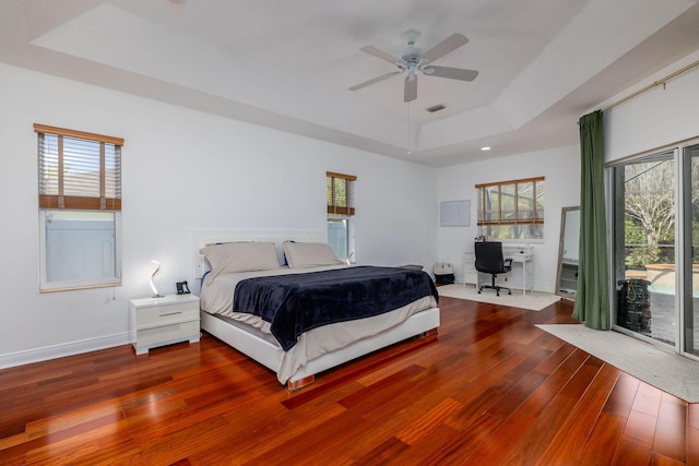
[{"label": "left glass panel of the sliding door, next to green curtain", "polygon": [[656,154],[614,171],[616,324],[674,345],[675,155]]}]

